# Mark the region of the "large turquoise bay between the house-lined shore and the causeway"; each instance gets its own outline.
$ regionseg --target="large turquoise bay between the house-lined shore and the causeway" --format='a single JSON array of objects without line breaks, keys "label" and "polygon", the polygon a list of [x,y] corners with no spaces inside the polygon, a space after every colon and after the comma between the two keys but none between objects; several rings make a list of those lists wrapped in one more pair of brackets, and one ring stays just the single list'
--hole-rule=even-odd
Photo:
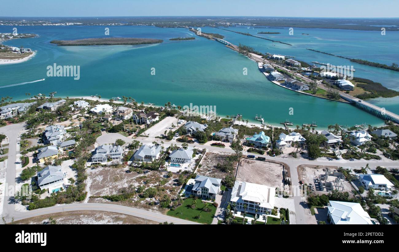
[{"label": "large turquoise bay between the house-lined shore and the causeway", "polygon": [[[0,26],[0,32],[10,32],[10,29],[11,26]],[[218,33],[222,33],[219,31]],[[268,81],[258,71],[255,62],[216,41],[202,37],[190,41],[168,40],[172,37],[193,35],[183,28],[110,28],[110,34],[113,36],[164,39],[162,44],[144,46],[60,47],[49,43],[53,39],[103,37],[104,27],[101,26],[21,26],[18,27],[18,32],[36,33],[40,37],[14,39],[6,44],[23,45],[38,50],[38,53],[24,63],[1,65],[0,87],[42,78],[46,80],[0,88],[0,96],[12,96],[14,100],[26,97],[25,93],[48,95],[53,91],[57,91],[56,96],[63,97],[99,94],[102,98],[111,98],[125,95],[132,96],[138,102],[152,102],[158,105],[170,101],[181,106],[190,106],[190,103],[198,106],[216,106],[215,111],[221,116],[238,113],[251,121],[255,114],[262,114],[265,122],[271,124],[279,124],[286,119],[294,125],[316,121],[319,128],[326,128],[328,124],[334,123],[383,124],[381,119],[350,104],[283,89]],[[241,43],[244,44],[248,44],[245,40],[248,38],[261,46],[264,46],[263,43],[269,43],[263,39],[232,32],[223,31],[223,34],[239,38],[237,41],[242,39]],[[226,39],[230,41],[230,37]],[[237,41],[232,39],[231,42]],[[283,54],[295,53],[286,50]],[[330,62],[327,59],[316,60]],[[46,67],[54,63],[79,65],[80,79],[47,77]],[[156,70],[155,75],[151,75],[153,67]],[[248,69],[247,75],[243,75],[244,67]],[[290,108],[293,108],[293,115],[289,114]]]}]

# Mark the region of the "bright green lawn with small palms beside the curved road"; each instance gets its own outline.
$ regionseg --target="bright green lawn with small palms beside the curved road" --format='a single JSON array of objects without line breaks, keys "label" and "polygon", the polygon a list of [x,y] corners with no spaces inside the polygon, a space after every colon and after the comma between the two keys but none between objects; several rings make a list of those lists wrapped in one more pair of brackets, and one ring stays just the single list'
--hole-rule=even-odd
[{"label": "bright green lawn with small palms beside the curved road", "polygon": [[[188,220],[188,221],[195,221],[203,224],[211,224],[213,217],[216,213],[216,207],[209,204],[210,212],[203,211],[204,203],[197,199],[197,207],[196,209],[191,208],[191,204],[193,202],[192,198],[186,199],[183,204],[176,208],[176,210],[169,210],[166,214],[172,217]],[[195,219],[198,214],[201,214],[201,219]]]}]

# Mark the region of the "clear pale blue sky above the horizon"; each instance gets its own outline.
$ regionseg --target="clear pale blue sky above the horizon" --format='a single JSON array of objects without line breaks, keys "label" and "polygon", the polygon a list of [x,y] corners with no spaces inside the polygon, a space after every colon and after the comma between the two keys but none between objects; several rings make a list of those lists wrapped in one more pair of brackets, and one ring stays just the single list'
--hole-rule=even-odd
[{"label": "clear pale blue sky above the horizon", "polygon": [[397,18],[398,0],[12,0],[0,16],[284,16]]}]

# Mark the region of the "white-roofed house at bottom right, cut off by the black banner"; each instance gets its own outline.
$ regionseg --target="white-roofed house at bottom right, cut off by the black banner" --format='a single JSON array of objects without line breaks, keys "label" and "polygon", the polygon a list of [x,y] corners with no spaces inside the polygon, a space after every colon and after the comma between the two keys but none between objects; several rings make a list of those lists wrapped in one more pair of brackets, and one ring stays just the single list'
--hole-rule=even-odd
[{"label": "white-roofed house at bottom right, cut off by the black banner", "polygon": [[330,201],[328,216],[332,224],[373,224],[359,203]]}]

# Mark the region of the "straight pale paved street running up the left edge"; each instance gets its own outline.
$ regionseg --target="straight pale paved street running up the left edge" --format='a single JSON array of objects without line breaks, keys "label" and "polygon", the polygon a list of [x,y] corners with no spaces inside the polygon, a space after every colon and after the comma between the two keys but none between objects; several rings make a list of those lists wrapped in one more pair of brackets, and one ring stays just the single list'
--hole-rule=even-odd
[{"label": "straight pale paved street running up the left edge", "polygon": [[4,191],[4,204],[2,216],[8,220],[10,215],[14,213],[14,204],[10,204],[10,195],[6,193],[7,188],[15,188],[15,170],[16,170],[16,154],[17,154],[17,142],[19,139],[20,132],[24,130],[23,123],[11,124],[0,128],[0,134],[8,136],[10,144],[8,145],[8,160],[6,170],[6,189]]}]

